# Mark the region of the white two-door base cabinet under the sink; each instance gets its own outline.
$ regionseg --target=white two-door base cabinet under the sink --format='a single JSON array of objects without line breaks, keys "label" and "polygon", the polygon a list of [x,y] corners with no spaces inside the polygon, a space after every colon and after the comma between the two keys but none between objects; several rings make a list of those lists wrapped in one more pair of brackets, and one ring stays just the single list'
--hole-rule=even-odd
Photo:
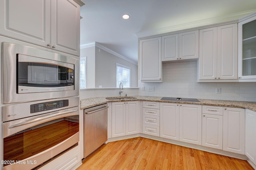
[{"label": "white two-door base cabinet under the sink", "polygon": [[139,133],[138,101],[112,102],[112,137]]}]

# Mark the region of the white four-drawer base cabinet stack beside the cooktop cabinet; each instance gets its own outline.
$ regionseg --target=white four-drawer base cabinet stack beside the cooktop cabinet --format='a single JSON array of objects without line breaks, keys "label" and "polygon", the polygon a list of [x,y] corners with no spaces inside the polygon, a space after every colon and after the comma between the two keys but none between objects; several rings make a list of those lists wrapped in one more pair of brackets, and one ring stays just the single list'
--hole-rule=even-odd
[{"label": "white four-drawer base cabinet stack beside the cooktop cabinet", "polygon": [[143,114],[142,114],[142,133],[160,136],[160,117],[159,108],[160,102],[147,102],[143,101]]}]

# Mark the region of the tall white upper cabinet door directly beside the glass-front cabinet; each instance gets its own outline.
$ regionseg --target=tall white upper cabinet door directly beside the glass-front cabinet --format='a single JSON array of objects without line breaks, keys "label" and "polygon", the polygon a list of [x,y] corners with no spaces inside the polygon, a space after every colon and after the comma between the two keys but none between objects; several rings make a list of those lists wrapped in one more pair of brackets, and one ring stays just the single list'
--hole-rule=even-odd
[{"label": "tall white upper cabinet door directly beside the glass-front cabinet", "polygon": [[218,79],[237,79],[237,23],[218,27]]}]

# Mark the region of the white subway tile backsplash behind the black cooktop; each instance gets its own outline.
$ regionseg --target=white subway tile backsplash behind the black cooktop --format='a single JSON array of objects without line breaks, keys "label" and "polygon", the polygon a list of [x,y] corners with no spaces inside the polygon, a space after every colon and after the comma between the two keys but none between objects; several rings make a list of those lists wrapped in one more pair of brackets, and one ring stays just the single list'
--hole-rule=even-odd
[{"label": "white subway tile backsplash behind the black cooktop", "polygon": [[[164,63],[163,82],[139,81],[138,95],[256,102],[255,82],[198,83],[196,64],[196,61]],[[145,91],[142,91],[142,86],[145,87]],[[155,91],[148,92],[148,86],[154,86]],[[215,93],[216,88],[221,88],[220,94]]]}]

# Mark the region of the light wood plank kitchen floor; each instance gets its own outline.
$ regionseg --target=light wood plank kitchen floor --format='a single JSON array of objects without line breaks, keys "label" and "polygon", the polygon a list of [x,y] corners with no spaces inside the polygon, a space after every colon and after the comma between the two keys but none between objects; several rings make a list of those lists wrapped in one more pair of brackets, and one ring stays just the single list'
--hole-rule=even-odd
[{"label": "light wood plank kitchen floor", "polygon": [[102,145],[77,170],[254,170],[246,160],[143,137]]}]

